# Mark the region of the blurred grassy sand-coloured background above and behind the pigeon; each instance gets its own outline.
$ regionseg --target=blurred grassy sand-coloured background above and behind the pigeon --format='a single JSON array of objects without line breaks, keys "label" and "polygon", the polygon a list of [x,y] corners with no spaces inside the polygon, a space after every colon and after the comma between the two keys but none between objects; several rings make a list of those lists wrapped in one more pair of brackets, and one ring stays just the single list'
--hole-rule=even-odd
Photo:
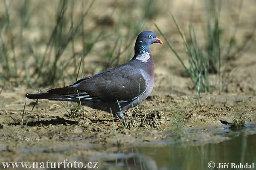
[{"label": "blurred grassy sand-coloured background above and behind the pigeon", "polygon": [[29,89],[69,85],[127,62],[141,31],[152,30],[163,39],[155,23],[183,62],[166,40],[163,46],[152,45],[155,90],[255,94],[255,79],[245,63],[253,58],[249,56],[255,41],[255,4],[253,0],[3,0],[1,91],[20,85]]}]

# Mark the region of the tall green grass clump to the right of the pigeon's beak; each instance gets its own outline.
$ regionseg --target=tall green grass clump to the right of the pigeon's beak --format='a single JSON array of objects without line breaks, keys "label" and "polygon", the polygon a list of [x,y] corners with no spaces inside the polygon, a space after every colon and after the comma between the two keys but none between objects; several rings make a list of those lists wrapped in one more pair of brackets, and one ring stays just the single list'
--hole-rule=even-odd
[{"label": "tall green grass clump to the right of the pigeon's beak", "polygon": [[[155,24],[160,34],[162,34],[166,40],[169,48],[171,48],[177,59],[183,65],[186,73],[192,79],[197,94],[200,92],[211,91],[211,86],[209,83],[210,74],[218,74],[218,89],[219,93],[221,93],[222,72],[225,66],[223,63],[226,63],[230,57],[235,59],[237,54],[241,54],[241,51],[245,49],[248,42],[250,42],[253,37],[255,29],[253,29],[253,33],[250,34],[250,37],[247,37],[246,40],[241,42],[241,44],[236,42],[236,31],[239,25],[242,3],[243,1],[241,0],[239,3],[235,30],[230,34],[230,31],[227,33],[227,31],[220,26],[221,1],[216,3],[215,0],[205,0],[206,21],[205,24],[202,24],[204,26],[203,45],[198,43],[198,32],[195,30],[195,27],[190,24],[189,32],[184,34],[177,20],[172,14],[172,19],[174,20],[175,26],[177,27],[177,30],[183,40],[183,45],[186,51],[186,59],[189,63],[188,65],[185,65],[185,61],[181,59],[180,55],[166,39],[166,36]],[[228,39],[226,37],[228,37]]]}]

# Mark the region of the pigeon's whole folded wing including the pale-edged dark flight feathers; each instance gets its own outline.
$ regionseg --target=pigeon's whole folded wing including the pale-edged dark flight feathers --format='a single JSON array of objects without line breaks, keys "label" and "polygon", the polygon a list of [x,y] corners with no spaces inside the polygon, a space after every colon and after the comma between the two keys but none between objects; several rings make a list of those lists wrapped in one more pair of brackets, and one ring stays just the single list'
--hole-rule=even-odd
[{"label": "pigeon's whole folded wing including the pale-edged dark flight feathers", "polygon": [[142,69],[121,66],[47,92],[95,102],[128,102],[146,91],[146,79]]}]

